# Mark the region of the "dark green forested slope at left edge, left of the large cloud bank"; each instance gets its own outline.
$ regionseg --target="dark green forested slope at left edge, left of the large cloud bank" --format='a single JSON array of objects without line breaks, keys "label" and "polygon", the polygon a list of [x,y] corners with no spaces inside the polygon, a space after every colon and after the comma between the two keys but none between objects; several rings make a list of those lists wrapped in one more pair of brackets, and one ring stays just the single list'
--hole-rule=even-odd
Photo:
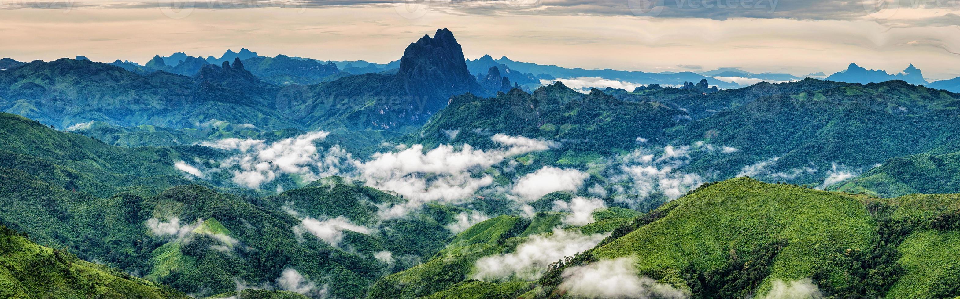
[{"label": "dark green forested slope at left edge, left of the large cloud bank", "polygon": [[174,167],[176,161],[223,155],[202,147],[118,148],[7,113],[0,113],[0,146],[0,166],[102,197],[119,191],[156,193],[189,184]]}]

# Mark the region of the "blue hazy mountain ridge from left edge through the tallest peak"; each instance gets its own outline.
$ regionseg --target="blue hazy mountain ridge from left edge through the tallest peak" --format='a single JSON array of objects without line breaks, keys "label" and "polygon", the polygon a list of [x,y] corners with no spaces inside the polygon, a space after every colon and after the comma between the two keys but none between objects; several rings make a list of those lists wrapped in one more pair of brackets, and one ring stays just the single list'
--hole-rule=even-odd
[{"label": "blue hazy mountain ridge from left edge through the tallest peak", "polygon": [[[0,111],[56,127],[103,121],[122,127],[195,128],[223,121],[275,130],[397,129],[419,127],[451,96],[495,92],[484,90],[469,74],[463,49],[445,29],[411,43],[396,74],[348,76],[290,88],[254,76],[241,59],[253,53],[240,52],[232,65],[187,57],[180,65],[190,61],[201,65],[198,71],[187,72],[194,73],[189,77],[164,71],[172,69],[159,56],[143,66],[124,61],[111,65],[68,58],[36,60],[0,73]],[[247,61],[261,76],[338,74],[335,64],[312,60],[278,56]],[[152,68],[159,71],[147,71]],[[408,103],[391,100],[397,98]],[[327,106],[331,99],[343,102]]]}]

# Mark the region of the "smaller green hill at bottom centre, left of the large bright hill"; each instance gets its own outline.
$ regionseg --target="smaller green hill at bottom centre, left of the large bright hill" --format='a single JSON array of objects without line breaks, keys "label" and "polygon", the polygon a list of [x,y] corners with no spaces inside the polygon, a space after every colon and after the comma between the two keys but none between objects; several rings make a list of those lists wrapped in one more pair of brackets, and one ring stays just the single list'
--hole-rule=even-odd
[{"label": "smaller green hill at bottom centre, left of the large bright hill", "polygon": [[500,216],[487,219],[457,234],[429,261],[381,278],[368,298],[516,298],[536,287],[536,282],[513,276],[505,281],[470,279],[475,264],[484,257],[516,252],[532,236],[551,236],[555,227],[583,234],[602,234],[639,215],[611,208],[593,213],[596,222],[582,227],[565,226],[567,214],[539,212],[532,219]]}]

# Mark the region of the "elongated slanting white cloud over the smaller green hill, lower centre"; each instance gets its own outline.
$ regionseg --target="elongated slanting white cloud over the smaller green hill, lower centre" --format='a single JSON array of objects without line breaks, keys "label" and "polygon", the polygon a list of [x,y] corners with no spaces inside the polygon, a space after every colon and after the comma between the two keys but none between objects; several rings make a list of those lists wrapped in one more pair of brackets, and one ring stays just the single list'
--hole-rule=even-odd
[{"label": "elongated slanting white cloud over the smaller green hill, lower centre", "polygon": [[486,281],[504,281],[512,277],[537,280],[547,265],[592,248],[608,235],[584,235],[555,228],[551,235],[531,236],[512,253],[477,260],[471,277]]}]

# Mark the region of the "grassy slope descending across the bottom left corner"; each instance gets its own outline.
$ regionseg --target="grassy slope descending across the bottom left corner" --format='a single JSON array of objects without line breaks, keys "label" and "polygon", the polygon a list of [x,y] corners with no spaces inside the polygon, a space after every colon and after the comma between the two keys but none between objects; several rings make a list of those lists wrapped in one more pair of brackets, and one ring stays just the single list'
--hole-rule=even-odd
[{"label": "grassy slope descending across the bottom left corner", "polygon": [[0,226],[0,297],[189,298],[169,287],[37,245]]}]

